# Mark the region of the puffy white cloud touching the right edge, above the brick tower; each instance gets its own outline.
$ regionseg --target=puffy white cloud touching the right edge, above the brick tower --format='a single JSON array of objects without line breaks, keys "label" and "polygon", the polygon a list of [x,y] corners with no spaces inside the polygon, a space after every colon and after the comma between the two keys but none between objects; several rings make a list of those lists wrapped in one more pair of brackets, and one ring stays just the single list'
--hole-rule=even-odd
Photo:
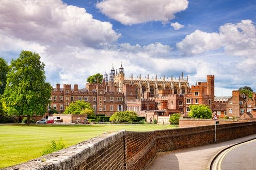
[{"label": "puffy white cloud touching the right edge, above the brick tower", "polygon": [[226,53],[236,56],[255,56],[256,28],[251,20],[242,20],[237,24],[220,26],[219,33],[196,30],[177,43],[177,47],[186,55],[223,47]]}]

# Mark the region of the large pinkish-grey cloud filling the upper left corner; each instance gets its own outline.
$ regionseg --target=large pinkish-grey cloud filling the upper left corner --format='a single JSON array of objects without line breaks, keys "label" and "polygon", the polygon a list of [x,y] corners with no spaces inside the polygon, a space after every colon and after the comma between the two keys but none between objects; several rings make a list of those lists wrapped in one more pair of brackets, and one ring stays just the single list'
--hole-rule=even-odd
[{"label": "large pinkish-grey cloud filling the upper left corner", "polygon": [[3,0],[0,11],[0,33],[41,45],[98,46],[120,36],[110,23],[60,0]]}]

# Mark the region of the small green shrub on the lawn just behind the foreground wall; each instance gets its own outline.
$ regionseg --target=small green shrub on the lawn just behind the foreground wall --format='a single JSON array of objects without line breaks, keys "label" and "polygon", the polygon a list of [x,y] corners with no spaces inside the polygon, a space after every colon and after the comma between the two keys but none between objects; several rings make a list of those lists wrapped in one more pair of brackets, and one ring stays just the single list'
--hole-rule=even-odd
[{"label": "small green shrub on the lawn just behind the foreground wall", "polygon": [[65,147],[66,147],[66,143],[61,138],[58,141],[52,140],[45,146],[41,155],[43,156],[43,155],[51,154]]}]

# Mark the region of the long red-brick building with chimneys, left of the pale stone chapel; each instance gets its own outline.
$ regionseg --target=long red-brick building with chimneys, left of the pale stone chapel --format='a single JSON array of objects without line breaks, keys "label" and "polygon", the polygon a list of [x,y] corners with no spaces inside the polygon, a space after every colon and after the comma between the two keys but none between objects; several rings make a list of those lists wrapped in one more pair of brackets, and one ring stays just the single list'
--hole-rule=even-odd
[{"label": "long red-brick building with chimneys, left of the pale stone chapel", "polygon": [[87,83],[86,88],[78,89],[78,85],[71,88],[70,84],[60,84],[52,90],[51,104],[48,109],[56,109],[60,114],[71,102],[85,101],[91,104],[95,114],[105,114],[111,116],[115,111],[123,111],[125,108],[124,94],[117,92],[117,88],[112,84]]}]

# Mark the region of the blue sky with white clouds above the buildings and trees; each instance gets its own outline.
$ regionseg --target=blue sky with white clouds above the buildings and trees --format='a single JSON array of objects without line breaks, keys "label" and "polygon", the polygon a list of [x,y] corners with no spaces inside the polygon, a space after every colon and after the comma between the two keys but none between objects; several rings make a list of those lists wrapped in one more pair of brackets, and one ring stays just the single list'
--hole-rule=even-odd
[{"label": "blue sky with white clouds above the buildings and trees", "polygon": [[78,84],[119,69],[189,85],[215,75],[215,96],[256,91],[256,1],[1,0],[0,57],[41,56],[46,81]]}]

